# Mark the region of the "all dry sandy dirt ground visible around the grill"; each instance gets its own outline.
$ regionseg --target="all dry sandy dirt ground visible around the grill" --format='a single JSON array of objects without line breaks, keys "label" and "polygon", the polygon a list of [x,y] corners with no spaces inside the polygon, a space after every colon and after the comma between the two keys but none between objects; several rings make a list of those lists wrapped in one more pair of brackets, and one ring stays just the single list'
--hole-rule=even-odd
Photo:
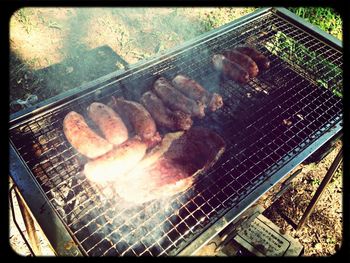
[{"label": "all dry sandy dirt ground visible around the grill", "polygon": [[[10,21],[10,112],[179,45],[252,10],[21,9]],[[340,147],[341,142],[338,142],[319,163],[298,167],[302,172],[277,201],[271,203],[268,197],[278,186],[260,201],[266,208],[265,216],[302,243],[305,256],[332,255],[341,246],[342,168],[335,174],[303,229],[296,232],[281,216],[281,211],[293,222],[298,222]],[[18,213],[18,207],[16,209]],[[11,215],[9,227],[13,249],[28,255],[29,250],[14,227]],[[23,224],[21,229],[26,234]],[[49,255],[51,252],[44,237],[40,237],[40,242],[44,247],[43,254]]]}]

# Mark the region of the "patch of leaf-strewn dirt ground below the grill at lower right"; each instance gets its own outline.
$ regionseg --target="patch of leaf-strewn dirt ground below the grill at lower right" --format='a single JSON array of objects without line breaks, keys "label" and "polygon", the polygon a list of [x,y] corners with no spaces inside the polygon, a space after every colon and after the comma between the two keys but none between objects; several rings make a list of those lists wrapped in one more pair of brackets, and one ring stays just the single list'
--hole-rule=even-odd
[{"label": "patch of leaf-strewn dirt ground below the grill at lower right", "polygon": [[305,256],[330,256],[335,254],[342,244],[342,165],[316,203],[304,227],[298,231],[293,227],[294,224],[298,224],[341,147],[342,142],[338,141],[334,150],[320,162],[299,165],[294,171],[302,169],[300,174],[292,180],[290,189],[274,203],[269,201],[269,196],[275,193],[278,186],[259,201],[266,208],[264,215],[267,218],[283,232],[300,241],[304,246]]}]

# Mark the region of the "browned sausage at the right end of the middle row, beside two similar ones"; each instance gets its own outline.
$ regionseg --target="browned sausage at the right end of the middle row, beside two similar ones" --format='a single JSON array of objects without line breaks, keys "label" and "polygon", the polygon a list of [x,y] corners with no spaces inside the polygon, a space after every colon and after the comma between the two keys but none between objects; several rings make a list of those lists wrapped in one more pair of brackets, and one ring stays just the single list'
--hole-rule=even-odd
[{"label": "browned sausage at the right end of the middle row, beside two similar ones", "polygon": [[211,111],[216,111],[223,105],[222,97],[219,94],[211,94],[202,85],[187,76],[177,75],[172,80],[172,84],[187,97],[200,101]]}]

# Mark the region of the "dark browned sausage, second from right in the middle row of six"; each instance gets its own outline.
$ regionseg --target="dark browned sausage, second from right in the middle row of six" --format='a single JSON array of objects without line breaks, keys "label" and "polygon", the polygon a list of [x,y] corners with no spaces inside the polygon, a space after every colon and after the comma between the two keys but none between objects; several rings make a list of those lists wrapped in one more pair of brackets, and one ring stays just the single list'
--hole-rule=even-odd
[{"label": "dark browned sausage, second from right in the middle row of six", "polygon": [[170,109],[183,111],[193,117],[203,118],[205,116],[204,105],[202,103],[197,103],[183,95],[164,77],[160,77],[154,82],[153,89],[157,96]]}]

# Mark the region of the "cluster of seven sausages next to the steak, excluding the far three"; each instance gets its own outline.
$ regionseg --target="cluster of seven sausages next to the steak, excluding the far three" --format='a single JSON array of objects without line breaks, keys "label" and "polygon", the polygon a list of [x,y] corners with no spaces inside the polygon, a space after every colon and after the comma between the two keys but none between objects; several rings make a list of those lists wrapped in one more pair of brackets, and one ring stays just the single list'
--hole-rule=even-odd
[{"label": "cluster of seven sausages next to the steak, excluding the far three", "polygon": [[219,94],[211,94],[184,75],[172,82],[160,77],[140,102],[112,96],[107,104],[91,103],[87,115],[103,136],[89,127],[83,115],[71,111],[65,116],[67,140],[91,159],[84,167],[91,181],[110,181],[134,167],[147,149],[162,140],[157,125],[170,131],[188,130],[193,118],[203,118],[223,105]]}]

